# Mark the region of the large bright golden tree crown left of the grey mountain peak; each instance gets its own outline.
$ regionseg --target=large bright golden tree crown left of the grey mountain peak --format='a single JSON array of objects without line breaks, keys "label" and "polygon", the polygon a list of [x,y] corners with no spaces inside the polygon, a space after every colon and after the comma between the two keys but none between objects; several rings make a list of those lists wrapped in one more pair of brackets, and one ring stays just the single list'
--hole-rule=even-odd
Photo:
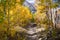
[{"label": "large bright golden tree crown left of the grey mountain peak", "polygon": [[25,26],[32,19],[32,14],[27,7],[16,4],[15,8],[9,10],[10,22]]}]

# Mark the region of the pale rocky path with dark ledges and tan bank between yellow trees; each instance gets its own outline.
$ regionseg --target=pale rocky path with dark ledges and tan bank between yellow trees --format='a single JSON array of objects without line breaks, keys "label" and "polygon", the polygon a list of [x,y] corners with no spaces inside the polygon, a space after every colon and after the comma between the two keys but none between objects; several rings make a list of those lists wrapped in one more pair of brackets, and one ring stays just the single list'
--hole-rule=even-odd
[{"label": "pale rocky path with dark ledges and tan bank between yellow trees", "polygon": [[14,29],[16,29],[16,31],[18,32],[22,32],[24,31],[26,33],[26,40],[42,40],[42,39],[46,39],[46,34],[45,32],[45,28],[43,27],[36,27],[33,26],[34,24],[32,24],[32,26],[29,26],[27,29],[25,28],[21,28],[21,27],[15,27]]}]

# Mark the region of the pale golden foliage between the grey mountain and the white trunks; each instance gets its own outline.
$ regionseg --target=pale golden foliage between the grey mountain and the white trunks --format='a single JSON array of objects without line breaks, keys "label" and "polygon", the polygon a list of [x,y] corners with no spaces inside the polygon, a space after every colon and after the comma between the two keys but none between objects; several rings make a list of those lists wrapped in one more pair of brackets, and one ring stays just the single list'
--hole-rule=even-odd
[{"label": "pale golden foliage between the grey mountain and the white trunks", "polygon": [[44,27],[46,30],[48,29],[48,19],[45,12],[45,6],[38,6],[37,11],[34,14],[34,20],[37,25]]}]

